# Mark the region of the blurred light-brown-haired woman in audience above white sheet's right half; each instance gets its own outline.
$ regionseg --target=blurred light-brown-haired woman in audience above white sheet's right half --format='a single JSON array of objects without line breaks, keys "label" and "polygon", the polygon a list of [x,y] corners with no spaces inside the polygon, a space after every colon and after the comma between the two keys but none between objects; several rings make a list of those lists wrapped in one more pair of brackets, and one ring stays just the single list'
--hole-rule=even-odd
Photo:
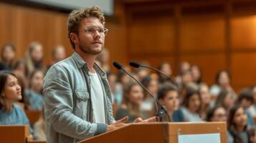
[{"label": "blurred light-brown-haired woman in audience above white sheet's right half", "polygon": [[200,114],[201,114],[201,118],[205,120],[207,117],[207,112],[210,109],[210,103],[211,103],[211,95],[209,94],[209,88],[207,84],[199,85],[199,94],[202,99]]}]

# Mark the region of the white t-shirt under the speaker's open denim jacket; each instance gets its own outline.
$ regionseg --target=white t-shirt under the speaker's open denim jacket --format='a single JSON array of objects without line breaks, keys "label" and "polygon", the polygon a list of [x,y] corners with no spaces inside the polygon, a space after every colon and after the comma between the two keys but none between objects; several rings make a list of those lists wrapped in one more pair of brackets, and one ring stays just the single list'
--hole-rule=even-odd
[{"label": "white t-shirt under the speaker's open denim jacket", "polygon": [[93,104],[93,115],[96,123],[105,124],[104,94],[98,74],[89,72],[92,79],[91,99]]}]

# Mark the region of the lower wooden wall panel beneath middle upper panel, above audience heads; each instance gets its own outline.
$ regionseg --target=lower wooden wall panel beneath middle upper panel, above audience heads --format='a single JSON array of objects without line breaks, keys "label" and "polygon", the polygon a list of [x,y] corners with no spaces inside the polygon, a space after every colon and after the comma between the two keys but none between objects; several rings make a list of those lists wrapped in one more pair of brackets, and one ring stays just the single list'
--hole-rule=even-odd
[{"label": "lower wooden wall panel beneath middle upper panel, above audience heads", "polygon": [[198,65],[203,73],[203,80],[211,85],[215,82],[215,76],[219,70],[226,69],[225,54],[198,54],[182,55],[181,61],[189,61],[191,65]]}]

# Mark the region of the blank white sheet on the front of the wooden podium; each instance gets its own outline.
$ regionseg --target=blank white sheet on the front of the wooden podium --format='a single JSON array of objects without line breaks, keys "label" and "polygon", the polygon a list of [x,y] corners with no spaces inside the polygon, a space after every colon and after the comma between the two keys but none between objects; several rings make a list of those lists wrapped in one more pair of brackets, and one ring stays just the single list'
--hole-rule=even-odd
[{"label": "blank white sheet on the front of the wooden podium", "polygon": [[180,134],[179,143],[220,143],[220,134]]}]

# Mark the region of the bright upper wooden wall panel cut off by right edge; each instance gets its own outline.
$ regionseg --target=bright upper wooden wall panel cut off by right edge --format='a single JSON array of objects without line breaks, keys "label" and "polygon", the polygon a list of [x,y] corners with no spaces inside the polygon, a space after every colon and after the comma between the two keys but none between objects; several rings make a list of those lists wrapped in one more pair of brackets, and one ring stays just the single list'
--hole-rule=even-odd
[{"label": "bright upper wooden wall panel cut off by right edge", "polygon": [[256,15],[233,17],[231,31],[234,49],[256,49]]}]

